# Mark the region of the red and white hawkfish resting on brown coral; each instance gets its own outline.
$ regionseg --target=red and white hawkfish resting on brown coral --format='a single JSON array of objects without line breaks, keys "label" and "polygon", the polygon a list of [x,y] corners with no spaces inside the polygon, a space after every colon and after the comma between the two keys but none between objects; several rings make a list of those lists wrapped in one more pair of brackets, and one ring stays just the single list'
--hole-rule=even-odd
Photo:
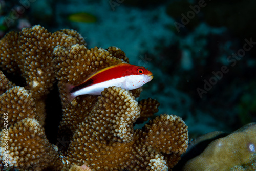
[{"label": "red and white hawkfish resting on brown coral", "polygon": [[80,95],[101,95],[101,92],[109,86],[126,90],[137,89],[152,79],[152,72],[145,67],[119,63],[96,72],[76,86],[66,84],[67,103]]}]

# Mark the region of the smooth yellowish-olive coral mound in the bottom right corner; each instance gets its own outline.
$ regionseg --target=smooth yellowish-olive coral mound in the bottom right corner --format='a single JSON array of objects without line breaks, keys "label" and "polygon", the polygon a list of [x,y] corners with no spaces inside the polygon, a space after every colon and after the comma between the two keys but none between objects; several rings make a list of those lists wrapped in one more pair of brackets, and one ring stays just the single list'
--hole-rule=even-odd
[{"label": "smooth yellowish-olive coral mound in the bottom right corner", "polygon": [[184,170],[255,170],[256,124],[247,124],[230,135],[211,142]]}]

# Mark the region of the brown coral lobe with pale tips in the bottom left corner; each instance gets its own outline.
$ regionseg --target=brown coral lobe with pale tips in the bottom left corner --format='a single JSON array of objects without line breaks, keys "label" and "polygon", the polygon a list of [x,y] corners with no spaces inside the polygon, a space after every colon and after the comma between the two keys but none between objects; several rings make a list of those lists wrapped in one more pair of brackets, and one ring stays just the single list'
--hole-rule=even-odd
[{"label": "brown coral lobe with pale tips in the bottom left corner", "polygon": [[58,153],[46,139],[44,129],[35,119],[23,119],[11,125],[8,131],[3,129],[0,135],[0,159],[6,161],[8,167],[21,170],[60,170],[63,167]]}]

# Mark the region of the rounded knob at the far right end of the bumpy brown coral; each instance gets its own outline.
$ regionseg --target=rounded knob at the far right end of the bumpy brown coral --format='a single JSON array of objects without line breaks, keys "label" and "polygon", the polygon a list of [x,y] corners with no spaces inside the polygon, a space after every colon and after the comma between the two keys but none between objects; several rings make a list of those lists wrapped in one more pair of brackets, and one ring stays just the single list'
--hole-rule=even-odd
[{"label": "rounded knob at the far right end of the bumpy brown coral", "polygon": [[182,154],[187,149],[187,126],[178,116],[161,115],[156,117],[145,125],[145,131],[148,132],[147,141],[153,141],[152,146],[159,152]]}]

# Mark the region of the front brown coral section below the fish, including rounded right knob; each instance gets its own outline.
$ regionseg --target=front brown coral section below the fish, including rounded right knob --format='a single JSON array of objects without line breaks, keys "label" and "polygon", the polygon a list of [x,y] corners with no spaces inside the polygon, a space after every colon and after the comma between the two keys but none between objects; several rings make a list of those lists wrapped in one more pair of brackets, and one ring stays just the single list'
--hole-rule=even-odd
[{"label": "front brown coral section below the fish, including rounded right knob", "polygon": [[184,153],[187,126],[177,116],[161,115],[145,125],[145,130],[134,132],[132,124],[137,117],[138,103],[129,91],[106,88],[90,115],[78,126],[67,160],[85,163],[94,170],[167,170],[162,153]]}]

